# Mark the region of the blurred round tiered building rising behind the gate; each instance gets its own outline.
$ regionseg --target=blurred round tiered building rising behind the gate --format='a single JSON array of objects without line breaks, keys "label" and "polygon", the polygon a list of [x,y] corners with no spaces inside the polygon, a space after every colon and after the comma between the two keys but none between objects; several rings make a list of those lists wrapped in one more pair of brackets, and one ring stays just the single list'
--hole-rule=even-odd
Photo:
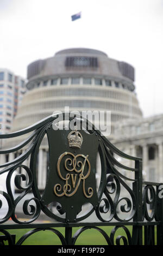
[{"label": "blurred round tiered building rising behind the gate", "polygon": [[110,111],[114,123],[140,118],[134,68],[92,49],[66,49],[28,66],[27,93],[12,131],[27,127],[54,111]]}]

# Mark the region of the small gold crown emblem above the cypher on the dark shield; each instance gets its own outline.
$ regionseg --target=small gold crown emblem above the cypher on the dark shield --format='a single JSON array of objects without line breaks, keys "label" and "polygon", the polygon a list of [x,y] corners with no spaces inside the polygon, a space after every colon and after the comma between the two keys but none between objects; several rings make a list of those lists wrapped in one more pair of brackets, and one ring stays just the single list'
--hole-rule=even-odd
[{"label": "small gold crown emblem above the cypher on the dark shield", "polygon": [[78,132],[77,128],[72,130],[67,136],[69,147],[80,148],[83,143],[82,134]]}]

